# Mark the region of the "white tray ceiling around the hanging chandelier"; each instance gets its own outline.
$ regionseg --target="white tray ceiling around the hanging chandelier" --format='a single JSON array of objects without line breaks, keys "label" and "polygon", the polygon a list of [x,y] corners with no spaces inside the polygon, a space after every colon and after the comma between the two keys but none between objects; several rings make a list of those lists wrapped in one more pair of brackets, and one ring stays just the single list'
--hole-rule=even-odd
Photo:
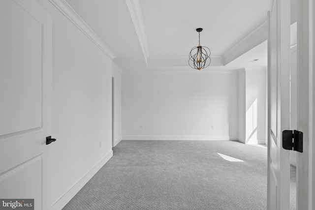
[{"label": "white tray ceiling around the hanging chandelier", "polygon": [[[267,65],[269,0],[66,0],[124,72],[196,71],[192,47],[211,50],[202,71]],[[250,60],[259,59],[249,63]]]}]

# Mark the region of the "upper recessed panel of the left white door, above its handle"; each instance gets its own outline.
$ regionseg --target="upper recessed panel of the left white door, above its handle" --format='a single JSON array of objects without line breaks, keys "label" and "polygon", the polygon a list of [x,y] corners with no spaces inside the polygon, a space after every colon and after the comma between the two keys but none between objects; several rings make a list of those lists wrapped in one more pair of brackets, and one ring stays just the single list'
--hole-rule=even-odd
[{"label": "upper recessed panel of the left white door, above its handle", "polygon": [[6,135],[41,128],[42,25],[12,0],[0,9],[0,118],[6,119],[0,135]]}]

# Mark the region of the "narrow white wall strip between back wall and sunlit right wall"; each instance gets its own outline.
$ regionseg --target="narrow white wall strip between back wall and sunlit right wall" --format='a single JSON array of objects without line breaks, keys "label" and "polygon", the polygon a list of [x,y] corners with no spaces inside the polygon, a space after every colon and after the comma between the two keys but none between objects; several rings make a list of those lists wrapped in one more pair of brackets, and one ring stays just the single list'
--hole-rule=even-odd
[{"label": "narrow white wall strip between back wall and sunlit right wall", "polygon": [[238,140],[246,143],[246,73],[238,70]]}]

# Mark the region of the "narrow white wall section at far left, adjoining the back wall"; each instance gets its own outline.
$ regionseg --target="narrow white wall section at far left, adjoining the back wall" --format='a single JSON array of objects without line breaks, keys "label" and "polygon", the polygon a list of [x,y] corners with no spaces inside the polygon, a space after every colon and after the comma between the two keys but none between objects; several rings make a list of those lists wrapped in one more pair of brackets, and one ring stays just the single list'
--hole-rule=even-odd
[{"label": "narrow white wall section at far left, adjoining the back wall", "polygon": [[114,78],[114,146],[122,140],[122,70],[113,65]]}]

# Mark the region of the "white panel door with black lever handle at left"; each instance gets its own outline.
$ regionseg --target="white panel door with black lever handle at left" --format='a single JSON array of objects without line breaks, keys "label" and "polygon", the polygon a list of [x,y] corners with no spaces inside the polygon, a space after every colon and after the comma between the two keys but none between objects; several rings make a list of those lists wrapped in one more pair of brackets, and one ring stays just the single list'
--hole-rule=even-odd
[{"label": "white panel door with black lever handle at left", "polygon": [[36,0],[0,0],[0,199],[51,209],[51,17]]}]

